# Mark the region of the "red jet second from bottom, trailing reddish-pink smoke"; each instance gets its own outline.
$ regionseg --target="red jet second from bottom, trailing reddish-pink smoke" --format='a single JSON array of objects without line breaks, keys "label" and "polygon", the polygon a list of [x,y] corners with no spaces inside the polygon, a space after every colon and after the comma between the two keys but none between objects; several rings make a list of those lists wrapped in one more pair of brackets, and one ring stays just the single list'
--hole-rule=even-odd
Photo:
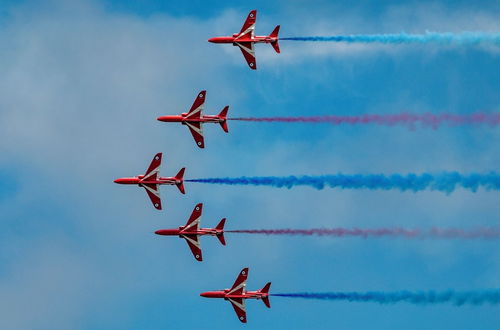
[{"label": "red jet second from bottom, trailing reddish-pink smoke", "polygon": [[222,219],[215,228],[200,228],[202,208],[202,203],[199,203],[194,207],[193,213],[191,214],[191,217],[189,217],[185,226],[181,226],[179,229],[160,229],[155,231],[155,234],[179,236],[186,239],[193,256],[196,260],[202,261],[203,256],[201,255],[201,245],[199,241],[200,236],[216,236],[222,245],[226,245],[226,241],[224,239],[224,223],[226,222],[226,218]]}]

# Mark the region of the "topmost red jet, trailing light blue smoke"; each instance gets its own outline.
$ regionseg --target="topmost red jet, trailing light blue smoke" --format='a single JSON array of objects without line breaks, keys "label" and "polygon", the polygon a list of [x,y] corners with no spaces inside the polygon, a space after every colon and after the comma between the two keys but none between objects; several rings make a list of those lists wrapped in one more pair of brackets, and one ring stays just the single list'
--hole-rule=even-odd
[{"label": "topmost red jet, trailing light blue smoke", "polygon": [[276,26],[268,36],[255,36],[255,21],[257,19],[257,11],[252,10],[248,14],[247,20],[243,24],[240,33],[235,33],[231,37],[216,37],[208,39],[209,42],[216,44],[233,44],[233,46],[240,47],[241,53],[245,57],[250,69],[257,69],[257,62],[255,61],[255,51],[253,46],[255,43],[264,42],[266,44],[271,44],[276,53],[280,52],[280,46],[278,45],[278,33],[280,26]]}]

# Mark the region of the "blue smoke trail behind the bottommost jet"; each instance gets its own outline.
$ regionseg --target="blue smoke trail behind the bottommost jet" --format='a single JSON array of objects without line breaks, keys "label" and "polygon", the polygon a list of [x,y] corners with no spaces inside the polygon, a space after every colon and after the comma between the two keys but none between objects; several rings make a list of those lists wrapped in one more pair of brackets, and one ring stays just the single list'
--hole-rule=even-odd
[{"label": "blue smoke trail behind the bottommost jet", "polygon": [[395,304],[406,302],[415,305],[430,305],[450,303],[455,306],[462,305],[497,305],[500,303],[500,290],[480,291],[424,291],[424,292],[299,292],[299,293],[275,293],[270,294],[277,297],[320,299],[320,300],[344,300],[350,302],[375,302],[379,304]]}]

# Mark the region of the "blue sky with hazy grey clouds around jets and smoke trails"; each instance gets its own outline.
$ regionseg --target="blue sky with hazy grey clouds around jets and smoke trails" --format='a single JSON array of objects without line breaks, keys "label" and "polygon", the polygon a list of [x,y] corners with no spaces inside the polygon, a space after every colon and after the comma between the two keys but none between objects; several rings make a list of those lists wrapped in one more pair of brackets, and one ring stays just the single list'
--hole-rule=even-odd
[{"label": "blue sky with hazy grey clouds around jets and smoke trails", "polygon": [[257,34],[282,36],[500,30],[497,1],[2,1],[0,4],[0,328],[494,329],[498,307],[380,306],[271,298],[240,325],[230,286],[274,292],[474,290],[500,286],[494,241],[407,241],[228,235],[204,238],[197,263],[157,229],[498,226],[498,192],[292,190],[186,184],[145,193],[113,184],[164,153],[162,174],[239,175],[499,171],[500,133],[487,127],[331,127],[230,122],[205,128],[155,120],[207,90],[206,112],[233,116],[498,112],[499,48],[281,43],[257,45],[259,69],[206,42],[236,32],[251,9]]}]

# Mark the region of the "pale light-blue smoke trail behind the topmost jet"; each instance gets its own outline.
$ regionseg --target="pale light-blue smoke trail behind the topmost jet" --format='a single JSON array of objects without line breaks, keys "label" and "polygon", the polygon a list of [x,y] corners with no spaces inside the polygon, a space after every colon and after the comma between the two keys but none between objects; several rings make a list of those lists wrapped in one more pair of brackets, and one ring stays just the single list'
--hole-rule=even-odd
[{"label": "pale light-blue smoke trail behind the topmost jet", "polygon": [[294,41],[326,41],[347,43],[384,43],[384,44],[407,44],[407,43],[442,43],[442,44],[500,44],[500,33],[486,32],[462,32],[462,33],[437,33],[426,32],[425,34],[355,34],[336,36],[311,36],[311,37],[289,37],[280,40]]}]

